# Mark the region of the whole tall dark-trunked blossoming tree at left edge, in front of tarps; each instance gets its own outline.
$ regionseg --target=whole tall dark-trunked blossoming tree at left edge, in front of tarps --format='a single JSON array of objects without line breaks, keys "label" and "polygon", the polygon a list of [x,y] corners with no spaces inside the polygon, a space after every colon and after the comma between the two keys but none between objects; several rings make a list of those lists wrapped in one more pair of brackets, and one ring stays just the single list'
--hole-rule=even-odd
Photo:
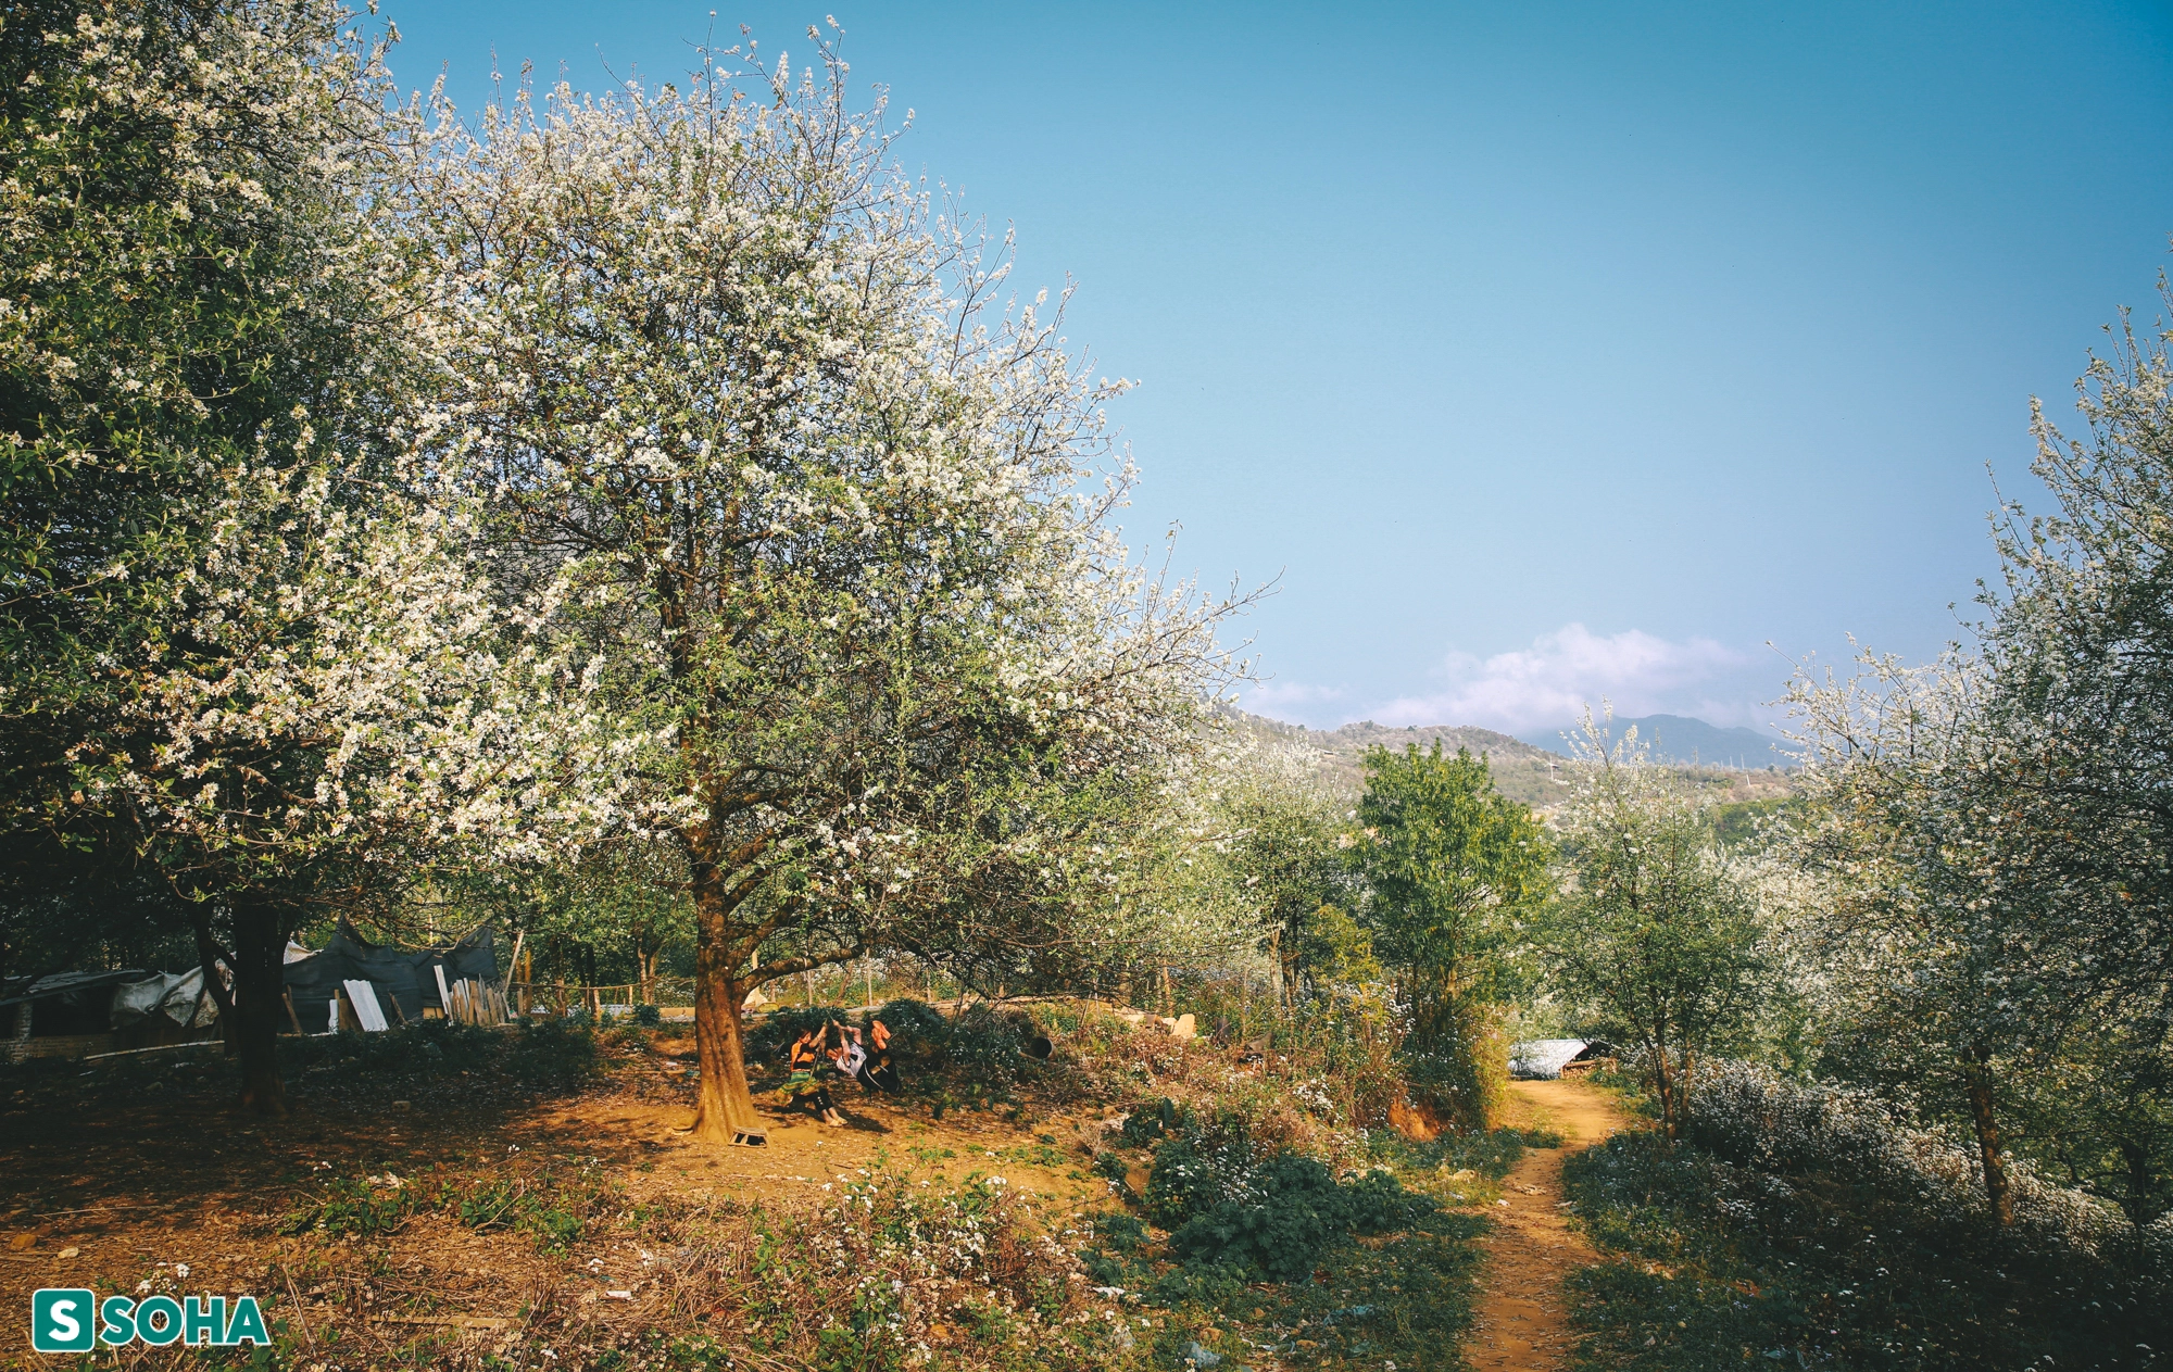
[{"label": "whole tall dark-trunked blossoming tree at left edge, in front of tarps", "polygon": [[276,1111],[293,925],[422,849],[565,834],[548,803],[595,788],[524,749],[587,734],[417,499],[385,39],[317,0],[15,20],[7,821],[183,899]]}]

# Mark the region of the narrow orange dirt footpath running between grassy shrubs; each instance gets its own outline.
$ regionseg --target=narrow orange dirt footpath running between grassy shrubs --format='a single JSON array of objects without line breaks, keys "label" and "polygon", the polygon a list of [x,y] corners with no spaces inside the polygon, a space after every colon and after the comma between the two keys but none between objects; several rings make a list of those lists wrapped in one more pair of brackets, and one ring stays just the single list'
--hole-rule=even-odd
[{"label": "narrow orange dirt footpath running between grassy shrubs", "polygon": [[1480,1372],[1554,1372],[1573,1337],[1562,1279],[1597,1261],[1562,1222],[1562,1159],[1623,1127],[1623,1114],[1582,1081],[1512,1081],[1504,1125],[1556,1129],[1560,1148],[1532,1148],[1502,1183],[1508,1207],[1484,1240],[1486,1276],[1478,1329],[1465,1350]]}]

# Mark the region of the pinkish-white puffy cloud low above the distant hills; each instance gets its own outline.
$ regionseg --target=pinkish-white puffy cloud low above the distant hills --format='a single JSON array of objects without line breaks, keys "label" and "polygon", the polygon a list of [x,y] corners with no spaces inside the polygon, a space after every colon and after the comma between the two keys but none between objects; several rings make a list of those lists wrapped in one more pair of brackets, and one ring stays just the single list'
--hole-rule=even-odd
[{"label": "pinkish-white puffy cloud low above the distant hills", "polygon": [[[1541,634],[1528,649],[1484,660],[1452,653],[1439,673],[1445,677],[1441,690],[1397,697],[1378,706],[1371,719],[1384,725],[1482,725],[1515,734],[1565,725],[1586,706],[1599,710],[1602,699],[1628,716],[1680,712],[1693,695],[1686,688],[1747,662],[1745,653],[1712,638],[1671,643],[1643,630],[1593,634],[1582,623],[1569,623]],[[1704,714],[1712,706],[1719,701],[1693,708]]]}]

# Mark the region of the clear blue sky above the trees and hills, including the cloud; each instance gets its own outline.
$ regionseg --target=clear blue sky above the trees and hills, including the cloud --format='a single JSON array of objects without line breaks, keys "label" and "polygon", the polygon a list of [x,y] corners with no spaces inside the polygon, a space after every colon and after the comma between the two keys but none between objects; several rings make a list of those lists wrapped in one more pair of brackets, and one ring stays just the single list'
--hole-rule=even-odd
[{"label": "clear blue sky above the trees and hills, including the cloud", "polygon": [[[708,4],[387,2],[395,72],[676,78]],[[1139,541],[1280,590],[1315,725],[1769,719],[1786,656],[1925,656],[1990,465],[2173,232],[2164,4],[719,7],[845,26],[900,156],[1078,282]],[[608,67],[606,67],[608,63]],[[1960,601],[1960,612],[1949,610]],[[1780,651],[1769,649],[1773,643]]]}]

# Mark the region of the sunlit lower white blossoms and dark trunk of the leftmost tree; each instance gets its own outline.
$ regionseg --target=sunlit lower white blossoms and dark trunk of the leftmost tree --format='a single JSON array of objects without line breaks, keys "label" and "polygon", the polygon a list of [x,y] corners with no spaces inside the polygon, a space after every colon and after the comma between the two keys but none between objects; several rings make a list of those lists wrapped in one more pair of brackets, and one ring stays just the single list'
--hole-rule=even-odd
[{"label": "sunlit lower white blossoms and dark trunk of the leftmost tree", "polygon": [[506,649],[461,521],[330,462],[222,478],[159,634],[109,664],[120,708],[70,749],[65,805],[120,818],[193,903],[235,975],[243,1101],[278,1111],[293,929],[428,855],[506,862],[593,829],[580,808],[615,771],[608,747],[582,751],[582,682]]}]

